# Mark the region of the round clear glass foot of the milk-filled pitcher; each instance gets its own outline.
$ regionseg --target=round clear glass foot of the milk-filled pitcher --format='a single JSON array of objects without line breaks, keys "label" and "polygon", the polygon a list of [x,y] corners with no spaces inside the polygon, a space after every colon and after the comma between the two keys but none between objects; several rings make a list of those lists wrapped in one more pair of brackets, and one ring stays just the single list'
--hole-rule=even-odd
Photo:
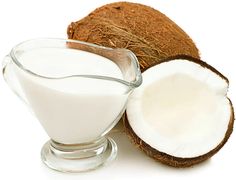
[{"label": "round clear glass foot of the milk-filled pitcher", "polygon": [[41,150],[44,164],[60,172],[94,170],[114,160],[116,155],[117,146],[111,138],[77,145],[65,145],[49,140]]}]

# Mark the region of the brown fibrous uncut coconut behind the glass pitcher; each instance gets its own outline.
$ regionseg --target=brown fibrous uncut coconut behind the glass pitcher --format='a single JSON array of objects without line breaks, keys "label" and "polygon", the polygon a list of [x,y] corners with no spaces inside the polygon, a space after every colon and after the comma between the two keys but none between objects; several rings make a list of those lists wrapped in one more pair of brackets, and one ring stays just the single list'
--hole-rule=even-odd
[{"label": "brown fibrous uncut coconut behind the glass pitcher", "polygon": [[178,54],[199,58],[191,38],[161,12],[137,3],[116,2],[72,22],[69,39],[111,48],[127,48],[138,57],[141,71]]}]

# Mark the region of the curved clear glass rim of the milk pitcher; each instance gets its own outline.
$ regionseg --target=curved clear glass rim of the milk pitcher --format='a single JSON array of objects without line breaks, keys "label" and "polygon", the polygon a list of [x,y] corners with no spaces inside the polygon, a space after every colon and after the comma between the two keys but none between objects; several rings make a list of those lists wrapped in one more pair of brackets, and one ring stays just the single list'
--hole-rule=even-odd
[{"label": "curved clear glass rim of the milk pitcher", "polygon": [[[77,44],[83,44],[83,45],[87,45],[87,46],[91,46],[91,47],[96,47],[96,48],[100,48],[100,49],[106,49],[106,50],[120,50],[120,51],[124,51],[126,52],[130,58],[131,61],[134,63],[135,65],[135,79],[133,81],[125,81],[123,79],[119,79],[119,78],[114,78],[114,77],[109,77],[109,76],[102,76],[102,75],[68,75],[68,76],[62,76],[62,77],[48,77],[48,76],[43,76],[43,75],[39,75],[27,68],[25,68],[17,59],[15,52],[17,50],[17,48],[19,48],[21,45],[29,43],[29,42],[37,42],[37,41],[57,41],[57,42],[71,42],[71,43],[77,43]],[[94,53],[95,54],[95,53]],[[141,85],[142,83],[142,74],[141,74],[141,70],[140,70],[140,66],[139,66],[139,62],[137,57],[135,56],[135,54],[125,48],[109,48],[109,47],[104,47],[104,46],[100,46],[100,45],[96,45],[93,43],[88,43],[88,42],[84,42],[84,41],[79,41],[79,40],[72,40],[72,39],[63,39],[63,38],[35,38],[35,39],[30,39],[30,40],[26,40],[23,41],[17,45],[15,45],[9,56],[11,57],[11,59],[13,60],[13,62],[16,64],[16,66],[18,66],[20,69],[22,69],[23,71],[25,71],[26,73],[29,73],[33,76],[36,77],[40,77],[40,78],[45,78],[45,79],[51,79],[51,80],[60,80],[60,79],[66,79],[66,78],[72,78],[72,77],[82,77],[82,78],[91,78],[91,79],[101,79],[101,80],[109,80],[109,81],[116,81],[119,83],[122,83],[126,86],[130,86],[130,87],[138,87]],[[101,56],[101,55],[100,55]],[[109,58],[108,58],[109,59]]]}]

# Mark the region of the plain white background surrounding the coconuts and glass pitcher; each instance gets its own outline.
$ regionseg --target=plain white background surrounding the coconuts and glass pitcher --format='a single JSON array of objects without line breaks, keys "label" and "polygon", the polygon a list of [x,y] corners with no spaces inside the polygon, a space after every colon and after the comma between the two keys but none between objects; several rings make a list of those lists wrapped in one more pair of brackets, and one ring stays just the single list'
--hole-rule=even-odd
[{"label": "plain white background surrounding the coconuts and glass pitcher", "polygon": [[[17,43],[37,37],[66,38],[71,21],[79,20],[109,0],[1,0],[0,58]],[[229,96],[236,103],[236,4],[234,0],[139,1],[174,20],[195,41],[204,61],[230,80]],[[213,179],[236,178],[236,135],[211,160],[187,169],[155,162],[127,137],[114,134],[116,161],[96,171],[63,174],[46,168],[40,149],[48,140],[39,122],[0,77],[0,179]]]}]

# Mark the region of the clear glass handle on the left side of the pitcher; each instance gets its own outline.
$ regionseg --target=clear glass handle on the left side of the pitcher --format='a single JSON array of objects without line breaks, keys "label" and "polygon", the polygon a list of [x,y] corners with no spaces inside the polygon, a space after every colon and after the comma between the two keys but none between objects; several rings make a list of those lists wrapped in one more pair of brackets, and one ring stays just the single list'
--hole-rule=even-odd
[{"label": "clear glass handle on the left side of the pitcher", "polygon": [[4,80],[8,84],[8,86],[11,88],[11,90],[25,103],[29,104],[22,89],[20,86],[20,83],[16,77],[16,74],[13,70],[13,64],[12,58],[10,55],[5,56],[2,62],[2,74],[4,77]]}]

